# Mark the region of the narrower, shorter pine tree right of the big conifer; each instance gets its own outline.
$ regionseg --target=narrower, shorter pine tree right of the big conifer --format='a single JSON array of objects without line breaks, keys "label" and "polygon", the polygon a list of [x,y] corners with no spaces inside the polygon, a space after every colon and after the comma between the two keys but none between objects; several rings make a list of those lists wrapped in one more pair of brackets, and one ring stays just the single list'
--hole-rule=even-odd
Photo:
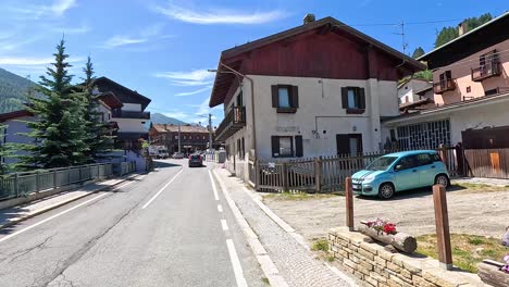
[{"label": "narrower, shorter pine tree right of the big conifer", "polygon": [[87,138],[85,144],[89,150],[87,155],[90,159],[101,159],[105,153],[113,150],[113,137],[109,125],[101,118],[102,113],[99,111],[100,102],[97,95],[94,95],[94,64],[90,57],[83,68],[85,73],[85,83],[83,84],[83,92],[85,93],[86,113],[85,113],[85,129]]}]

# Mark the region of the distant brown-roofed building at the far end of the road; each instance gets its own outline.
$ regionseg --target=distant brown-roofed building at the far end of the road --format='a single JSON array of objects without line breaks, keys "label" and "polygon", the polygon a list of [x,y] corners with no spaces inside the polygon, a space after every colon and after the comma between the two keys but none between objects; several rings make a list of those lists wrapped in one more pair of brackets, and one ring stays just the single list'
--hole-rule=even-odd
[{"label": "distant brown-roofed building at the far end of the road", "polygon": [[[209,129],[200,125],[152,124],[149,129],[150,145],[165,146],[173,153],[178,151],[178,129],[181,129],[181,151],[185,153],[206,150],[209,147]],[[213,137],[212,137],[213,141]]]}]

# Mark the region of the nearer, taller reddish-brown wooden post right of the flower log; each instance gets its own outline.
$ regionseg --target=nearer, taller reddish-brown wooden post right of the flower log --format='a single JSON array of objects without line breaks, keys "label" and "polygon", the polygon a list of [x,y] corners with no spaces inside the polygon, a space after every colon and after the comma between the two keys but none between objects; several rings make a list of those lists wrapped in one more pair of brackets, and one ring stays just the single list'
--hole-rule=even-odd
[{"label": "nearer, taller reddish-brown wooden post right of the flower log", "polygon": [[435,204],[436,239],[438,261],[445,270],[452,270],[452,252],[450,248],[449,215],[445,187],[433,186],[433,202]]}]

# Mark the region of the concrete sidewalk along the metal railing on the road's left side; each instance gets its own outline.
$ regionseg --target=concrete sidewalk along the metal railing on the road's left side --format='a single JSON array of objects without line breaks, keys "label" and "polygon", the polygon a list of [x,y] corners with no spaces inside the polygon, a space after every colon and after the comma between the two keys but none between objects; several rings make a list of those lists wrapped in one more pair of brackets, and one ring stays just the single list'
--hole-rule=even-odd
[{"label": "concrete sidewalk along the metal railing on the road's left side", "polygon": [[82,186],[78,189],[63,191],[22,205],[2,209],[0,210],[0,229],[26,221],[47,211],[60,208],[94,192],[111,188],[136,176],[138,176],[138,174],[97,182]]}]

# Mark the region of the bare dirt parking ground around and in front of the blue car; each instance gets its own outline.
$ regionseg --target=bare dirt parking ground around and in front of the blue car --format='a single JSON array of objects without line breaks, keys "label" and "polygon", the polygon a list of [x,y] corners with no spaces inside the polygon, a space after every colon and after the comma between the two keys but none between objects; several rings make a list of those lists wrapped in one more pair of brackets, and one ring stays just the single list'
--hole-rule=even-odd
[{"label": "bare dirt parking ground around and in front of the blue car", "polygon": [[[451,233],[465,233],[501,238],[509,225],[509,188],[507,191],[472,192],[452,189],[447,192]],[[343,196],[313,196],[291,199],[266,196],[263,199],[277,215],[306,239],[326,237],[332,227],[345,224]],[[435,214],[431,188],[398,194],[392,200],[356,197],[355,223],[375,217],[397,223],[400,232],[414,236],[435,233]]]}]

